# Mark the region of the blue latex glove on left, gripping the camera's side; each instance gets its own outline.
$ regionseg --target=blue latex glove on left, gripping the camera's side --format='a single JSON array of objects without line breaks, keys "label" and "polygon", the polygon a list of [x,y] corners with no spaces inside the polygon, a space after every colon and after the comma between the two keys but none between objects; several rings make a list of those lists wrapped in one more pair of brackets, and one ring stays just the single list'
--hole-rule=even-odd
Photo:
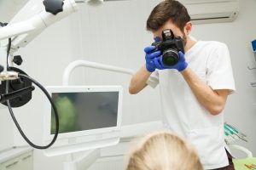
[{"label": "blue latex glove on left, gripping the camera's side", "polygon": [[160,51],[154,51],[154,46],[148,46],[147,48],[144,48],[144,52],[146,53],[145,59],[146,59],[146,69],[149,72],[155,71],[155,65],[154,65],[154,59],[159,58],[161,52]]}]

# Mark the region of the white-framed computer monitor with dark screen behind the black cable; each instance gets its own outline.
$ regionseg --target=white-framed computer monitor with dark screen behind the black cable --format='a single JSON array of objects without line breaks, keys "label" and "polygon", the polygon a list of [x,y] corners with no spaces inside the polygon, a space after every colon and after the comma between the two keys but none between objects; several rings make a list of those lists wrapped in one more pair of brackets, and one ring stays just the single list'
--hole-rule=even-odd
[{"label": "white-framed computer monitor with dark screen behind the black cable", "polygon": [[[59,112],[55,144],[44,150],[58,156],[119,143],[123,89],[120,86],[54,86],[46,88]],[[44,144],[55,133],[55,116],[45,100]]]}]

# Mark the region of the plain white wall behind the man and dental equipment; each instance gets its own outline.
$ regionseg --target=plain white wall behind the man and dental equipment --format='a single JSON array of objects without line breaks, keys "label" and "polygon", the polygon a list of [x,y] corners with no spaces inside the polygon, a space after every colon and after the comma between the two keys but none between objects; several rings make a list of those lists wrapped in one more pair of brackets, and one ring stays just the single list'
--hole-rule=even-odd
[{"label": "plain white wall behind the man and dental equipment", "polygon": [[[151,34],[145,31],[145,22],[158,2],[140,0],[104,3],[99,7],[82,5],[79,13],[50,26],[26,48],[20,49],[24,59],[21,69],[44,85],[61,85],[65,67],[75,59],[137,70],[144,62],[143,48],[152,42]],[[251,88],[249,82],[256,79],[256,74],[255,70],[247,70],[247,65],[255,62],[250,45],[256,38],[255,6],[253,0],[241,1],[241,13],[235,22],[195,26],[192,31],[198,39],[217,40],[229,46],[237,90],[229,97],[225,120],[247,133],[249,142],[241,144],[254,155],[256,88]],[[80,75],[84,78],[79,79]],[[78,68],[73,72],[72,84],[120,84],[125,89],[124,125],[159,120],[158,90],[146,88],[141,94],[130,95],[127,91],[130,78],[118,73]],[[15,110],[21,127],[36,144],[41,144],[44,130],[42,98],[44,96],[37,88],[30,104]],[[8,117],[0,119],[1,127],[7,120]],[[5,133],[0,130],[1,137]],[[14,141],[15,144],[26,144],[16,131]],[[49,159],[41,150],[35,150],[35,170],[62,169],[63,160],[63,156]]]}]

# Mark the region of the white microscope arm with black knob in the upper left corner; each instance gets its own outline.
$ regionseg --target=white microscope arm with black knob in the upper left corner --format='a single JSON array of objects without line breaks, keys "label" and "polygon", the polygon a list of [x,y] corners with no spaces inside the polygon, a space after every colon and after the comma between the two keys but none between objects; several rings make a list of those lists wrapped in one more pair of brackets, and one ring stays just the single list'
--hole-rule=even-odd
[{"label": "white microscope arm with black knob in the upper left corner", "polygon": [[[32,8],[36,8],[38,4],[44,6],[46,1],[47,0],[44,0],[43,4],[42,2],[40,3],[40,1],[31,0],[26,3],[27,5],[20,10],[21,12],[18,13],[18,16],[15,16],[15,18],[22,18],[22,15],[27,15],[27,12],[32,11]],[[55,2],[56,1],[62,3],[62,0],[55,0]],[[8,26],[0,28],[0,41],[12,37],[12,49],[13,52],[15,52],[18,48],[25,47],[26,44],[44,31],[46,27],[78,10],[74,0],[64,0],[63,7],[61,7],[61,11],[57,12],[57,14],[55,14],[55,12],[47,12],[45,8],[41,9],[38,14],[34,14],[27,20],[15,20],[15,23],[11,20]],[[3,47],[4,45],[7,44],[3,44]]]}]

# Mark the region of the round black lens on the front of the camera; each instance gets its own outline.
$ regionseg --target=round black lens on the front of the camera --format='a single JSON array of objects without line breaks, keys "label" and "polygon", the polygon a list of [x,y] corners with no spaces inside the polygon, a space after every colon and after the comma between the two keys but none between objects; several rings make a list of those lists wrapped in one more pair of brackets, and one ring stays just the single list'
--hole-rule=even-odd
[{"label": "round black lens on the front of the camera", "polygon": [[167,49],[163,53],[163,63],[168,66],[176,65],[177,61],[179,59],[179,56],[177,54],[177,51],[173,49]]}]

